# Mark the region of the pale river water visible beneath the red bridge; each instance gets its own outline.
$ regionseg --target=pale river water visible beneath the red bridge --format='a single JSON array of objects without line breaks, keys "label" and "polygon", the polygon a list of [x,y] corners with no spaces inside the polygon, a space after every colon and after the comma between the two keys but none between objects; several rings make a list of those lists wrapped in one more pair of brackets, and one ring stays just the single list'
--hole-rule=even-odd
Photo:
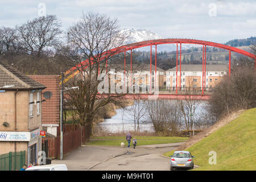
[{"label": "pale river water visible beneath the red bridge", "polygon": [[[203,111],[203,107],[204,107],[204,102],[201,102],[196,108],[195,115],[200,114],[201,111]],[[131,109],[131,106],[127,106],[125,108],[125,110],[129,110],[129,109]],[[125,110],[117,109],[116,110],[117,114],[115,114],[112,118],[105,119],[105,121],[99,123],[98,126],[100,126],[102,130],[108,133],[134,131],[133,115],[131,115],[131,113]],[[145,114],[144,117],[142,117],[141,121],[142,123],[139,124],[139,131],[154,132],[154,127],[148,119],[148,113]]]}]

